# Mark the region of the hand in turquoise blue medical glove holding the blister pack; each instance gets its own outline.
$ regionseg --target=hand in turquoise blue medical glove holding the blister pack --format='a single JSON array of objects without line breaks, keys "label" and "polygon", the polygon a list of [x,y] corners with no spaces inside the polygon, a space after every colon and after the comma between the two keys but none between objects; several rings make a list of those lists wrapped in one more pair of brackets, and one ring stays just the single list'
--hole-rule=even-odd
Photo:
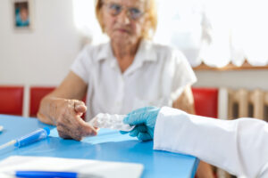
[{"label": "hand in turquoise blue medical glove holding the blister pack", "polygon": [[138,140],[149,141],[154,138],[155,121],[159,108],[145,107],[130,112],[123,122],[128,125],[136,125],[130,131],[130,136],[138,137]]}]

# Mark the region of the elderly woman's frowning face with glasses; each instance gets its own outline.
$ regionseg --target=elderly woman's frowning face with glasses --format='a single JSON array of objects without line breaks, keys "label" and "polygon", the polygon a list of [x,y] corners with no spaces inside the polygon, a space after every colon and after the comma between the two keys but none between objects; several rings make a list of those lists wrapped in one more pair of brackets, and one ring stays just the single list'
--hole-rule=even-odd
[{"label": "elderly woman's frowning face with glasses", "polygon": [[120,44],[135,44],[144,31],[145,0],[104,0],[102,7],[105,32]]}]

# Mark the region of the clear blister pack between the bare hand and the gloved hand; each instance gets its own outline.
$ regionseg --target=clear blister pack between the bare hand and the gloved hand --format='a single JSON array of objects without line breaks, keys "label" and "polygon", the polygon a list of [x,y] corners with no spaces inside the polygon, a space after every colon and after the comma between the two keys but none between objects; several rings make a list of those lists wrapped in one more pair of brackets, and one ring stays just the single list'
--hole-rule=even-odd
[{"label": "clear blister pack between the bare hand and the gloved hand", "polygon": [[88,124],[98,128],[110,128],[129,132],[134,128],[134,125],[131,126],[124,124],[124,117],[126,117],[126,115],[110,115],[99,113],[98,115],[96,115],[96,117],[88,121]]}]

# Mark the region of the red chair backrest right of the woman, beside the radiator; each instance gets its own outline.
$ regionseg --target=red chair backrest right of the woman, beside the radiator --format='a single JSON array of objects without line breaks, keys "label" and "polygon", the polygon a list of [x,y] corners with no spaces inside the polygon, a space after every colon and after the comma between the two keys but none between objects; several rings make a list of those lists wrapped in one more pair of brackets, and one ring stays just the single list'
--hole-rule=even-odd
[{"label": "red chair backrest right of the woman, beside the radiator", "polygon": [[195,109],[198,116],[218,117],[218,88],[193,87]]}]

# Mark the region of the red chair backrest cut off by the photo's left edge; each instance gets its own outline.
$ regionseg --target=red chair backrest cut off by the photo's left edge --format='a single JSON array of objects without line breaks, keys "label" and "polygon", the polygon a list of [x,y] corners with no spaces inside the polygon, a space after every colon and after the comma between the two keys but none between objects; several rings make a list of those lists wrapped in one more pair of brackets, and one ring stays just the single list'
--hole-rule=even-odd
[{"label": "red chair backrest cut off by the photo's left edge", "polygon": [[22,115],[23,86],[0,86],[0,114]]}]

